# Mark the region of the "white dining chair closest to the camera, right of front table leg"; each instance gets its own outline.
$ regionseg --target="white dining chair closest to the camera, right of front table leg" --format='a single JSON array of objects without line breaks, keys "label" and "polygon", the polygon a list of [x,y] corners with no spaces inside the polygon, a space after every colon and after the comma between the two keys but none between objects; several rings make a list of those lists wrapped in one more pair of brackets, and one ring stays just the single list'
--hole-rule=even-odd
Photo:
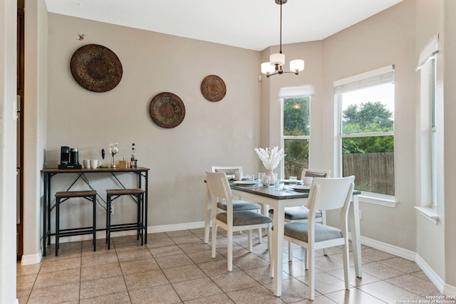
[{"label": "white dining chair closest to the camera, right of front table leg", "polygon": [[[355,177],[321,178],[312,181],[307,208],[307,221],[284,224],[284,240],[305,248],[309,259],[309,295],[315,298],[315,251],[333,246],[343,247],[343,274],[345,288],[350,288],[348,263],[348,209],[353,196]],[[318,210],[339,210],[338,225],[317,223]]]}]

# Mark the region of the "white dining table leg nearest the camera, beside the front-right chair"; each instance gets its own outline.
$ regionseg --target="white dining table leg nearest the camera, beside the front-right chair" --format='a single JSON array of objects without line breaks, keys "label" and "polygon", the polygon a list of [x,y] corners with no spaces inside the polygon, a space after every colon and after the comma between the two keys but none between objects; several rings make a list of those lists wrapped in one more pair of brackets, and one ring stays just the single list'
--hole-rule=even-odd
[{"label": "white dining table leg nearest the camera, beside the front-right chair", "polygon": [[274,231],[272,231],[272,256],[273,256],[273,276],[274,276],[274,295],[277,297],[282,294],[282,261],[284,257],[284,207],[274,208]]}]

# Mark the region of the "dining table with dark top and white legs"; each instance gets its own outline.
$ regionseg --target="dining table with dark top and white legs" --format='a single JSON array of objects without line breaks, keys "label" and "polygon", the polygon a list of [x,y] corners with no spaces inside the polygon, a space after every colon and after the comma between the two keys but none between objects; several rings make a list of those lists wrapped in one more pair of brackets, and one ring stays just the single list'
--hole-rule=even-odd
[{"label": "dining table with dark top and white legs", "polygon": [[[307,199],[309,198],[309,192],[297,192],[294,191],[294,189],[291,189],[288,185],[286,185],[284,189],[275,189],[274,186],[263,186],[260,181],[259,183],[250,186],[244,186],[242,184],[234,184],[234,182],[230,182],[230,187],[232,189],[233,196],[239,196],[239,198],[245,201],[252,201],[262,204],[264,206],[264,214],[268,212],[269,207],[274,209],[274,229],[272,231],[271,244],[273,261],[271,263],[271,267],[274,269],[272,273],[272,276],[274,276],[274,295],[279,297],[281,295],[282,288],[282,263],[284,257],[284,209],[291,206],[306,206]],[[361,194],[360,191],[353,192],[353,199],[348,215],[349,230],[351,232],[351,242],[353,246],[353,260],[355,263],[355,273],[357,277],[361,277],[363,274],[361,267],[361,233],[358,200],[359,194]],[[209,202],[207,205],[210,214]],[[205,227],[205,230],[205,235],[207,234],[208,239],[209,227]]]}]

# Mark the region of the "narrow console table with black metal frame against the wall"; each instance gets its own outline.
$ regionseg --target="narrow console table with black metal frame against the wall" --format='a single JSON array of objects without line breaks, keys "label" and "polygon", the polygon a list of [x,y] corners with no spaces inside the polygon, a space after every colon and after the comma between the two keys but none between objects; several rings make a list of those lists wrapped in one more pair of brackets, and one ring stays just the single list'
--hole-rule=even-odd
[{"label": "narrow console table with black metal frame against the wall", "polygon": [[[138,177],[138,188],[141,189],[142,187],[142,177],[144,178],[144,243],[147,243],[147,186],[148,186],[148,173],[149,168],[145,167],[138,167],[138,168],[98,168],[98,169],[42,169],[41,173],[43,173],[43,256],[46,256],[46,245],[51,244],[51,236],[55,234],[51,234],[51,210],[53,207],[51,206],[51,178],[56,174],[78,174],[78,177],[73,181],[73,183],[66,189],[68,191],[73,187],[73,185],[78,181],[78,179],[83,178],[88,187],[93,190],[90,186],[88,179],[86,177],[86,173],[110,173],[112,176],[120,183],[120,185],[125,189],[122,182],[118,179],[115,173],[134,173]],[[99,194],[97,194],[100,196]],[[100,196],[101,197],[101,196]],[[98,230],[105,230],[105,229],[97,229]],[[47,243],[47,244],[46,244]]]}]

